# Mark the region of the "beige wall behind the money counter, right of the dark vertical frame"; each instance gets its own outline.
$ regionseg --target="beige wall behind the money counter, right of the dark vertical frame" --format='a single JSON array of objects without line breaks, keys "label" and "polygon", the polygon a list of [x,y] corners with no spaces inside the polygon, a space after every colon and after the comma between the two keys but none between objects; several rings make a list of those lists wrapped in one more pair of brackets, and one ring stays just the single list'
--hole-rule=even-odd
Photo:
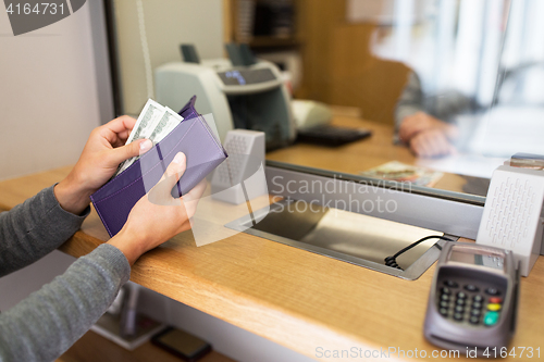
[{"label": "beige wall behind the money counter, right of the dark vertical frame", "polygon": [[201,59],[223,57],[222,0],[141,0],[141,12],[136,0],[114,3],[124,113],[138,114],[153,98],[148,92],[141,18],[151,74],[164,63],[182,60],[181,43],[195,43]]}]

